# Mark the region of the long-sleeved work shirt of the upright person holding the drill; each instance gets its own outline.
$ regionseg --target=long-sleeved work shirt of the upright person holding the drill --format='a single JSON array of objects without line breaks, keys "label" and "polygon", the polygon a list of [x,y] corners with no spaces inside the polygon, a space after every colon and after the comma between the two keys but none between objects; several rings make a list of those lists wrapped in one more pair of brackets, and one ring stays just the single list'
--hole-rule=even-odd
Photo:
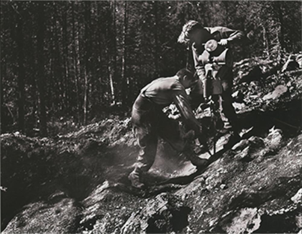
[{"label": "long-sleeved work shirt of the upright person holding the drill", "polygon": [[[227,27],[204,27],[212,37],[219,42],[221,39],[228,39],[229,42],[239,42],[245,38],[245,34],[239,30],[232,30]],[[204,42],[205,43],[205,42]],[[193,60],[199,79],[204,80],[206,76],[204,61],[199,57],[204,52],[203,45],[192,44]]]}]

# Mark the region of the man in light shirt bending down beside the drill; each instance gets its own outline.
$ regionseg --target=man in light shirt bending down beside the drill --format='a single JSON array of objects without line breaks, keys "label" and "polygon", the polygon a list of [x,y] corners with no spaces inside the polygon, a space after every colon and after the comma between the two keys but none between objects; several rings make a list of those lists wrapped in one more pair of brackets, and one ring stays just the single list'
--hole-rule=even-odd
[{"label": "man in light shirt bending down beside the drill", "polygon": [[[179,70],[172,77],[158,78],[146,85],[132,107],[131,122],[140,152],[134,170],[128,178],[135,188],[142,188],[141,174],[149,170],[156,156],[158,136],[167,141],[177,152],[182,152],[193,165],[204,166],[207,159],[201,159],[188,147],[187,140],[181,136],[178,121],[169,119],[163,107],[172,102],[177,106],[186,126],[194,131],[194,136],[206,144],[202,126],[196,120],[186,88],[198,82],[187,69]],[[193,131],[191,131],[193,133]],[[193,134],[192,134],[193,135]]]}]

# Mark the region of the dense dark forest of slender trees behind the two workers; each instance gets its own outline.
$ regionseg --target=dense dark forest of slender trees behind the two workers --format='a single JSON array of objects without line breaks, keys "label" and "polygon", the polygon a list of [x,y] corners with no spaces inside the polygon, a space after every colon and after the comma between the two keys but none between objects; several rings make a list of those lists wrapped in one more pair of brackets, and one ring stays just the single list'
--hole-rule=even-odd
[{"label": "dense dark forest of slender trees behind the two workers", "polygon": [[192,68],[190,19],[243,30],[235,61],[301,51],[300,1],[1,1],[1,132],[128,115],[144,85]]}]

